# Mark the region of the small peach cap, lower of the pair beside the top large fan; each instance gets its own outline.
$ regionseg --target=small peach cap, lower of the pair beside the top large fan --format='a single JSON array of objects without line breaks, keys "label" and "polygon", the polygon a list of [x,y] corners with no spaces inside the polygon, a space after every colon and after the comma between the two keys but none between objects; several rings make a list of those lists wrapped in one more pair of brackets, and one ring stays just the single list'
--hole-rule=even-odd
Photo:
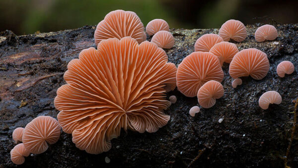
[{"label": "small peach cap, lower of the pair beside the top large fan", "polygon": [[172,48],[175,44],[174,36],[168,31],[158,31],[153,35],[152,43],[155,43],[160,48]]}]

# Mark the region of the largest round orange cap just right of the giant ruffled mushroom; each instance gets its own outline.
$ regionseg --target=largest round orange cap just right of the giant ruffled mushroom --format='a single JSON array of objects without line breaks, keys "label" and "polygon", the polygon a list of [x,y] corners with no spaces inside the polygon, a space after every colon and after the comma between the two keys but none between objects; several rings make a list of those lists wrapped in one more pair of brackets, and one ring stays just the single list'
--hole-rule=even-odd
[{"label": "largest round orange cap just right of the giant ruffled mushroom", "polygon": [[178,66],[176,80],[178,90],[185,96],[194,97],[208,81],[222,82],[224,72],[217,56],[209,52],[193,52]]}]

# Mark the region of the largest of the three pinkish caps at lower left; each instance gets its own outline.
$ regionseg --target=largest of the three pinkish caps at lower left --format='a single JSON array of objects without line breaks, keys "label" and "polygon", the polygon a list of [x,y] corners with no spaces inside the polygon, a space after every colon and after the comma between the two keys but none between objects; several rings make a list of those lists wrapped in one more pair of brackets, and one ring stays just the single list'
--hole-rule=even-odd
[{"label": "largest of the three pinkish caps at lower left", "polygon": [[29,122],[23,132],[25,148],[33,154],[41,154],[48,144],[55,144],[60,137],[60,125],[50,116],[38,116]]}]

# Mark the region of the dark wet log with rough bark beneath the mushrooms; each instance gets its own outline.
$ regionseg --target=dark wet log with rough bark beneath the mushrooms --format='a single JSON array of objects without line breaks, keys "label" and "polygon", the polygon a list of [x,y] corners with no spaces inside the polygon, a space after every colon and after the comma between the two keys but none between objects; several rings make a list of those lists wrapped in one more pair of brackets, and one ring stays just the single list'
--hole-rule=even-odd
[{"label": "dark wet log with rough bark beneath the mushrooms", "polygon": [[[248,37],[235,43],[239,50],[257,48],[268,55],[270,70],[259,81],[243,78],[243,84],[231,87],[228,65],[224,64],[224,96],[215,106],[201,109],[191,117],[189,109],[197,98],[183,96],[177,89],[168,93],[177,102],[165,111],[171,115],[166,126],[156,133],[121,132],[112,140],[112,149],[90,155],[77,149],[70,134],[62,133],[58,143],[40,155],[25,158],[24,167],[298,167],[297,133],[294,126],[298,98],[298,24],[275,25],[279,36],[274,41],[257,43],[258,26],[248,25]],[[94,26],[74,30],[16,36],[0,33],[0,168],[15,167],[10,161],[14,147],[12,132],[25,127],[39,115],[56,117],[57,88],[65,84],[67,64],[85,48],[95,47]],[[166,50],[169,62],[178,65],[194,51],[201,35],[218,29],[172,29],[175,46]],[[296,70],[279,78],[278,63],[288,60]],[[258,98],[268,90],[278,91],[283,101],[268,110],[258,106]],[[218,120],[223,118],[223,122]],[[110,163],[105,163],[105,158]]]}]

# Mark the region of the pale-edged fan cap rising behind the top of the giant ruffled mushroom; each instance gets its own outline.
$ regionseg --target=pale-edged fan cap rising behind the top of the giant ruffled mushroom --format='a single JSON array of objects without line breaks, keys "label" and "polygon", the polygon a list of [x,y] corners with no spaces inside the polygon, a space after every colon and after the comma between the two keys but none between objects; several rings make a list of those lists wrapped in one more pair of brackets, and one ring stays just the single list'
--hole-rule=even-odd
[{"label": "pale-edged fan cap rising behind the top of the giant ruffled mushroom", "polygon": [[144,41],[144,25],[135,12],[114,10],[97,24],[94,32],[95,44],[101,40],[130,36],[140,44]]}]

